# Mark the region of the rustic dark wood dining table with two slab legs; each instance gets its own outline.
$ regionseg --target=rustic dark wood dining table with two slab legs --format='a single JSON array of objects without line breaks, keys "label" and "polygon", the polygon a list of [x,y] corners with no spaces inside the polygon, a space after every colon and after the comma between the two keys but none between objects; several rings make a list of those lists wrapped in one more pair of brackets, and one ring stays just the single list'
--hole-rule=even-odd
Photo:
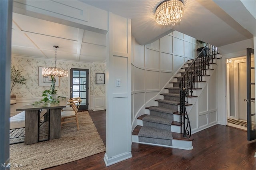
[{"label": "rustic dark wood dining table with two slab legs", "polygon": [[48,139],[52,140],[60,138],[61,109],[66,107],[68,99],[58,100],[60,101],[58,104],[49,104],[46,106],[39,105],[36,107],[29,104],[16,109],[16,111],[25,111],[25,145],[39,142],[40,111],[42,109],[47,109],[47,121],[49,121]]}]

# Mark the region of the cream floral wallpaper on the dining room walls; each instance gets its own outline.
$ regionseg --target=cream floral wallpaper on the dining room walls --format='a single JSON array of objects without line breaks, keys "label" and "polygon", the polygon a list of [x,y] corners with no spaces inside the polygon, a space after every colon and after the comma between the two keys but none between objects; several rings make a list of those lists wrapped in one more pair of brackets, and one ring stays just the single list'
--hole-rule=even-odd
[{"label": "cream floral wallpaper on the dining room walls", "polygon": [[[12,57],[12,65],[16,69],[22,70],[22,75],[27,79],[25,85],[16,84],[12,94],[16,98],[42,97],[42,91],[50,89],[50,86],[38,86],[38,68],[55,67],[54,59],[38,59],[26,57]],[[95,73],[105,73],[105,63],[81,63],[73,61],[57,60],[57,67],[70,70],[70,68],[89,69],[90,75],[90,95],[105,96],[105,85],[96,85]],[[58,95],[69,97],[69,79],[70,77],[59,77]],[[12,82],[11,82],[12,83]]]}]

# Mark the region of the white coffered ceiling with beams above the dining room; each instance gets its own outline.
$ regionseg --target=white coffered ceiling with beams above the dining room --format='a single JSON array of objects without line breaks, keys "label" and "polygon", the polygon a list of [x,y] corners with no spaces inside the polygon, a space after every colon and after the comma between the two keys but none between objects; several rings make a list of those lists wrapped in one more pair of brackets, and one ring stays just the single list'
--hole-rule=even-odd
[{"label": "white coffered ceiling with beams above the dining room", "polygon": [[81,62],[106,60],[106,35],[13,13],[12,55]]}]

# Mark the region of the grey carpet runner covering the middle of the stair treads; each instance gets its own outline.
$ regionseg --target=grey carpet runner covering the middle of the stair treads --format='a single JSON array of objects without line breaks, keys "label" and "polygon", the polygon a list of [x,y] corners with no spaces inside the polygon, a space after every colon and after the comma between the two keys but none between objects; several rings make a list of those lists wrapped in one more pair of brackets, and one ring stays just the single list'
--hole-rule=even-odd
[{"label": "grey carpet runner covering the middle of the stair treads", "polygon": [[[182,71],[181,74],[185,72]],[[174,87],[166,88],[168,93],[163,93],[164,99],[156,100],[158,106],[146,107],[149,109],[149,115],[142,115],[143,126],[138,132],[138,141],[151,144],[161,144],[172,146],[172,123],[174,121],[174,112],[178,111],[180,103],[179,80],[172,82]],[[175,123],[174,123],[175,124]],[[179,123],[175,124],[179,126]]]}]

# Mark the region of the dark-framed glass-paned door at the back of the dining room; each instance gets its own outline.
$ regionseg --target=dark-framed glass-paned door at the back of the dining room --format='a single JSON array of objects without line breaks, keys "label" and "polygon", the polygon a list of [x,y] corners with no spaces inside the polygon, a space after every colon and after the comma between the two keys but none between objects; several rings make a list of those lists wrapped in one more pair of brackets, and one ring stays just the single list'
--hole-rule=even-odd
[{"label": "dark-framed glass-paned door at the back of the dining room", "polygon": [[89,70],[70,69],[70,98],[81,97],[79,111],[88,110]]}]

